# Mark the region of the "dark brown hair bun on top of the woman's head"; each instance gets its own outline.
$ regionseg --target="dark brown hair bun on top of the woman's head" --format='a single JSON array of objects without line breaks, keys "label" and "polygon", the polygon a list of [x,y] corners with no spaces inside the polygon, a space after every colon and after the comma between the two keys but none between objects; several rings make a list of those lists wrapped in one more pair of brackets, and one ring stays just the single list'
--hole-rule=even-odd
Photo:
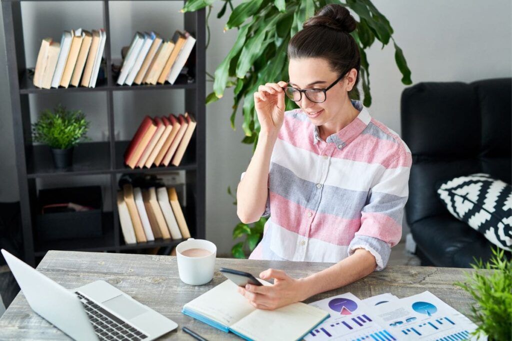
[{"label": "dark brown hair bun on top of the woman's head", "polygon": [[356,21],[348,9],[342,5],[329,4],[306,20],[303,27],[325,26],[336,31],[350,33],[355,30],[355,25]]}]

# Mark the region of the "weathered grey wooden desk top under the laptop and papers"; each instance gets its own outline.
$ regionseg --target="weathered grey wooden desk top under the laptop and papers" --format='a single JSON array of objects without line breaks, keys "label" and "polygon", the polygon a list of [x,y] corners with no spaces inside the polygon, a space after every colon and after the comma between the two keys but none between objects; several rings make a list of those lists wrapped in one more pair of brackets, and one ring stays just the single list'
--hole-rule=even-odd
[{"label": "weathered grey wooden desk top under the laptop and papers", "polygon": [[[134,299],[167,316],[179,327],[167,333],[163,339],[192,340],[181,327],[201,334],[208,340],[238,339],[231,333],[209,327],[181,313],[183,305],[203,292],[222,283],[225,278],[218,271],[220,267],[230,267],[258,275],[272,267],[283,269],[295,278],[305,277],[329,267],[328,263],[304,263],[281,261],[253,261],[218,258],[215,264],[214,279],[202,286],[190,286],[180,281],[178,264],[173,256],[129,255],[108,253],[85,253],[50,251],[37,269],[66,288],[72,289],[97,280],[111,283]],[[391,292],[399,298],[425,290],[431,291],[441,300],[461,313],[468,315],[471,297],[461,288],[453,285],[465,279],[464,271],[471,269],[389,266],[380,272],[361,279],[343,288],[318,294],[307,301],[352,292],[360,299]],[[22,292],[11,303],[0,319],[0,339],[68,339],[57,328],[34,313]]]}]

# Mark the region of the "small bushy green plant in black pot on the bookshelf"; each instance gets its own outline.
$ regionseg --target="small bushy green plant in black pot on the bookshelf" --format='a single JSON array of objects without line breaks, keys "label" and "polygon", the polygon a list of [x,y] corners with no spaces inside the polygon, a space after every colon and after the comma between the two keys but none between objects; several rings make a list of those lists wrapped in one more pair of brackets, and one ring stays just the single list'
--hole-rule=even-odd
[{"label": "small bushy green plant in black pot on the bookshelf", "polygon": [[73,160],[73,148],[87,140],[89,122],[81,110],[67,110],[58,104],[53,111],[46,109],[32,125],[34,142],[44,143],[52,149],[56,168],[68,168]]}]

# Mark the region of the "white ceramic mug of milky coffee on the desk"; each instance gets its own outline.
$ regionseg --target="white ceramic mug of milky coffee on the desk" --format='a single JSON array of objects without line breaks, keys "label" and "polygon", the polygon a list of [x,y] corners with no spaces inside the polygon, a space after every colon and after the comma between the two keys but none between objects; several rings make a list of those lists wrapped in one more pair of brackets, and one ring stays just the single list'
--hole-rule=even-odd
[{"label": "white ceramic mug of milky coffee on the desk", "polygon": [[[191,248],[203,248],[211,252],[208,256],[187,257],[182,253]],[[214,278],[217,246],[204,239],[188,238],[176,246],[178,272],[180,279],[190,285],[206,284]]]}]

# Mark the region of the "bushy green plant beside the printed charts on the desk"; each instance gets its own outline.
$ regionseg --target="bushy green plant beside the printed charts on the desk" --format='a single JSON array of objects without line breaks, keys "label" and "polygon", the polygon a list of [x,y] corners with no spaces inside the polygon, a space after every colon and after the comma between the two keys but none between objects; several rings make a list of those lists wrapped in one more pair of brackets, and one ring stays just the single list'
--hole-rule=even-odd
[{"label": "bushy green plant beside the printed charts on the desk", "polygon": [[455,283],[476,301],[471,307],[471,317],[478,325],[473,335],[508,341],[512,337],[512,261],[503,249],[493,248],[487,263],[475,262],[472,267],[476,271],[466,272],[467,280]]}]

